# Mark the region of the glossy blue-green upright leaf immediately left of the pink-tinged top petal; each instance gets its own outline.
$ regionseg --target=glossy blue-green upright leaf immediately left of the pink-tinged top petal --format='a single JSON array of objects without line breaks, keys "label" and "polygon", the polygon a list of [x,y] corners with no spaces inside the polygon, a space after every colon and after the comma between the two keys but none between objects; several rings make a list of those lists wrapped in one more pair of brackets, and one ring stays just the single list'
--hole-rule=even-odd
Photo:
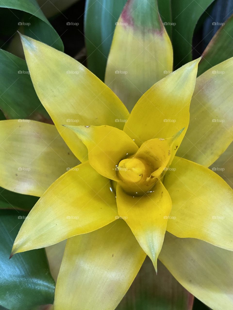
[{"label": "glossy blue-green upright leaf immediately left of the pink-tinged top petal", "polygon": [[87,0],[85,10],[85,41],[88,69],[104,80],[107,56],[115,23],[127,0]]}]

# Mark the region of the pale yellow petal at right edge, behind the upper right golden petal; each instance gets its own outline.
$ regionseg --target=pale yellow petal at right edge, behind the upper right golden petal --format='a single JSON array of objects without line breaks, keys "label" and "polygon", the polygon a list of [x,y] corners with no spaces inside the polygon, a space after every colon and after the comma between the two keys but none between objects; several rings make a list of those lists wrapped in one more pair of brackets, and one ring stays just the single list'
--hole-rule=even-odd
[{"label": "pale yellow petal at right edge, behind the upper right golden petal", "polygon": [[233,58],[197,78],[178,156],[210,166],[233,140]]}]

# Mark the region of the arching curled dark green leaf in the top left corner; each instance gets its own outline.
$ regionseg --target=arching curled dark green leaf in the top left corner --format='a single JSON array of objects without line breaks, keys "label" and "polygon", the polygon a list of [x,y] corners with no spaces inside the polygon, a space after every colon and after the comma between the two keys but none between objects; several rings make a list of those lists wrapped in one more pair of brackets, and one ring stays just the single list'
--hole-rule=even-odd
[{"label": "arching curled dark green leaf in the top left corner", "polygon": [[[5,0],[0,2],[0,7],[25,12],[24,19],[18,19],[18,28],[22,25],[24,33],[29,37],[64,51],[61,38],[40,10],[36,0]],[[15,14],[14,11],[13,13]],[[15,15],[17,16],[17,12]],[[11,20],[8,20],[8,24],[11,25]]]}]

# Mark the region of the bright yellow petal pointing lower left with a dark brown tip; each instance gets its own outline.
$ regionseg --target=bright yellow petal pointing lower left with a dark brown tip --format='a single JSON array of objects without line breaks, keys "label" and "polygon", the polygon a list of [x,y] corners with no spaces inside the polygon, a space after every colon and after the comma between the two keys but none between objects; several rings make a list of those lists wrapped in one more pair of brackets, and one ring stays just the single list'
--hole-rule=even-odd
[{"label": "bright yellow petal pointing lower left with a dark brown tip", "polygon": [[12,254],[94,231],[116,216],[116,197],[109,180],[85,162],[57,179],[35,204],[21,226]]}]

